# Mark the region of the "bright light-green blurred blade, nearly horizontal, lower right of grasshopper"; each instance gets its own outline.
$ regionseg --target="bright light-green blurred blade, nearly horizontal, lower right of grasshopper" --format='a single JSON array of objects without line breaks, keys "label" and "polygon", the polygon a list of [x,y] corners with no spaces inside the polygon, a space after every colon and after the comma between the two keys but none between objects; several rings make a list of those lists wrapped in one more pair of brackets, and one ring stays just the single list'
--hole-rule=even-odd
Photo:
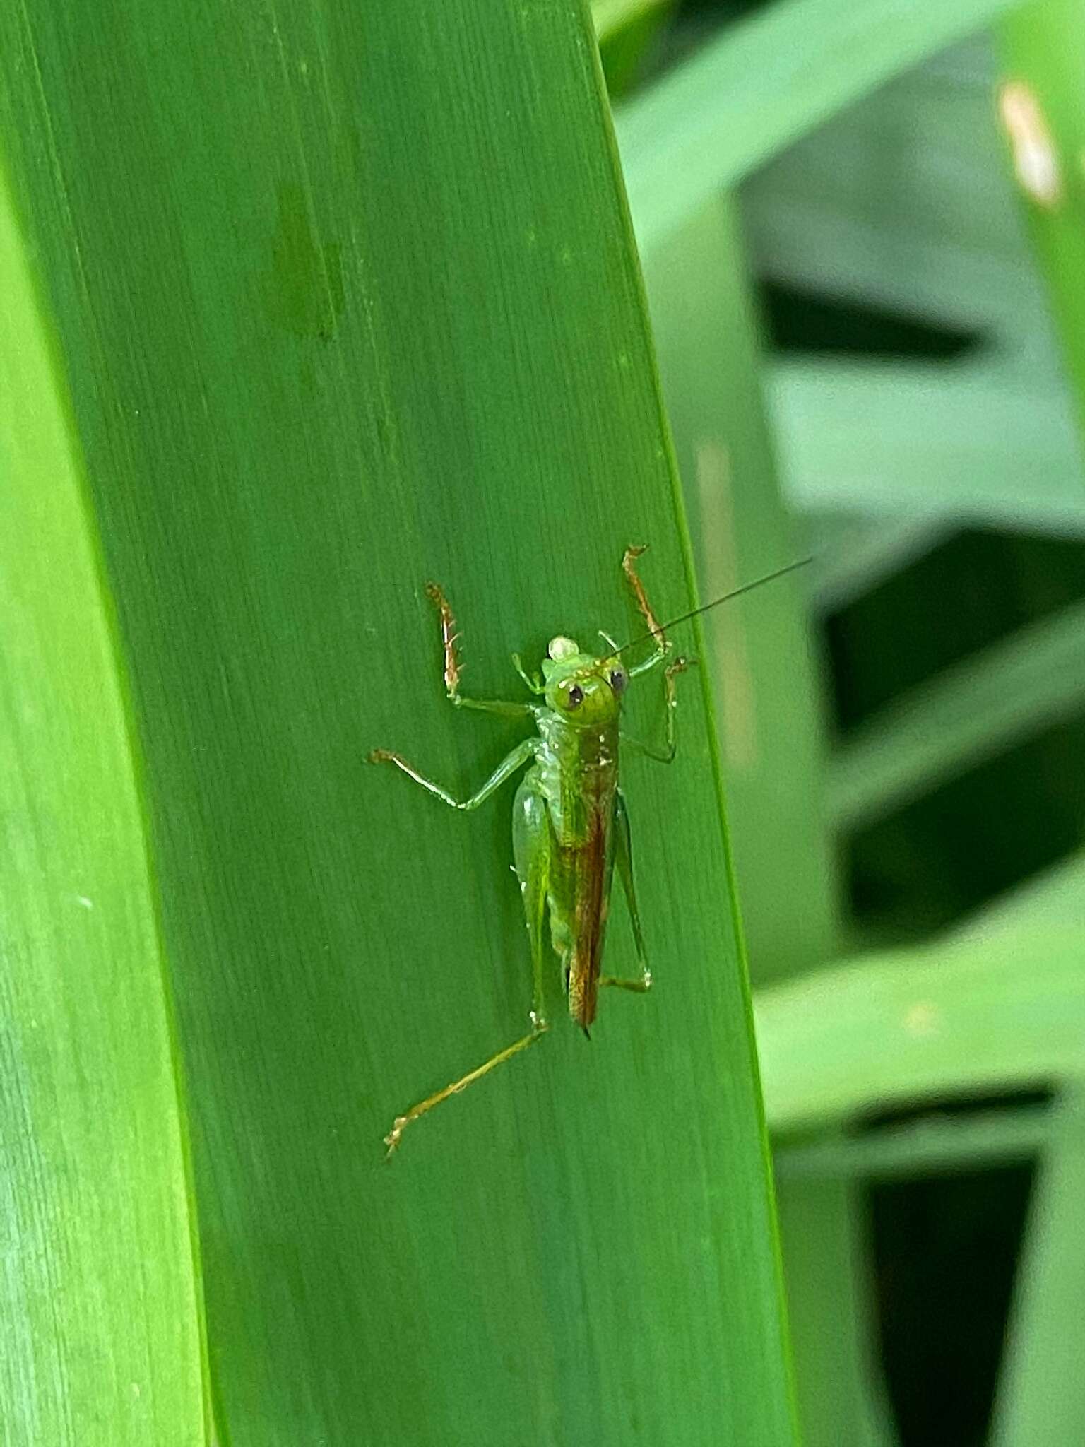
[{"label": "bright light-green blurred blade, nearly horizontal, lower right of grasshopper", "polygon": [[937,1095],[1085,1074],[1081,929],[1059,923],[888,951],[761,991],[775,1132]]}]

